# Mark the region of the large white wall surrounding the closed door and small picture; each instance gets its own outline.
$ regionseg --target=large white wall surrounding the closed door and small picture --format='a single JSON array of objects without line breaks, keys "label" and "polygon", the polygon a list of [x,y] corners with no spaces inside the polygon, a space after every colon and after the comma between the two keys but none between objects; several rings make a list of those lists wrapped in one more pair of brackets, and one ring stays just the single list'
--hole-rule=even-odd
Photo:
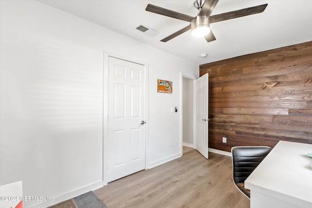
[{"label": "large white wall surrounding the closed door and small picture", "polygon": [[[198,65],[38,1],[0,1],[0,184],[56,197],[26,208],[103,184],[104,50],[149,63],[147,157],[150,167],[173,159],[179,73],[198,77]],[[173,94],[156,93],[157,78],[173,81]]]}]

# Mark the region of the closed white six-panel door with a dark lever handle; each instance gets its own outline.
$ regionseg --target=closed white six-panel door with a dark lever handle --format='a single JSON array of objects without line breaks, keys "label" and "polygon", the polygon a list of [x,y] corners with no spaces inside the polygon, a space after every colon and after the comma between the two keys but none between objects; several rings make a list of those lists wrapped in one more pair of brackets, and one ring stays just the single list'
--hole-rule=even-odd
[{"label": "closed white six-panel door with a dark lever handle", "polygon": [[108,182],[111,182],[145,169],[145,67],[114,57],[108,61]]}]

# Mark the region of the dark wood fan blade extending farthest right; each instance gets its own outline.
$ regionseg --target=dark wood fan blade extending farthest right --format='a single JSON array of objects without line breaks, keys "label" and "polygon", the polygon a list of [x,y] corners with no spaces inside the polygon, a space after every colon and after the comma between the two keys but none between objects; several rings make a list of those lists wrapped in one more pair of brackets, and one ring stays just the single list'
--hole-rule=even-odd
[{"label": "dark wood fan blade extending farthest right", "polygon": [[226,12],[219,15],[210,16],[210,23],[224,21],[228,19],[240,18],[248,15],[254,15],[261,13],[265,10],[268,4],[262,4],[259,6],[253,6],[245,9],[235,10],[232,12]]}]

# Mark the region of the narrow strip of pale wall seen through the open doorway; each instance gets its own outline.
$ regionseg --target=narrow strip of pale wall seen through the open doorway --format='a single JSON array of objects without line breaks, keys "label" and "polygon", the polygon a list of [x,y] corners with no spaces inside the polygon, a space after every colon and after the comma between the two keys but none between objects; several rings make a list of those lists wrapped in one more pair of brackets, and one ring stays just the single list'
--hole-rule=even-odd
[{"label": "narrow strip of pale wall seen through the open doorway", "polygon": [[183,144],[193,147],[194,79],[183,77]]}]

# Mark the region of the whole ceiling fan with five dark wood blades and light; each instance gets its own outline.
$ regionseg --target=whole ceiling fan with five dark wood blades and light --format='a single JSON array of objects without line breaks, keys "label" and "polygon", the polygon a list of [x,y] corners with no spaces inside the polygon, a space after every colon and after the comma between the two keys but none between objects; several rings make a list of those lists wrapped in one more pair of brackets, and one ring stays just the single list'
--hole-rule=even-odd
[{"label": "whole ceiling fan with five dark wood blades and light", "polygon": [[210,30],[210,23],[215,23],[219,21],[224,21],[228,19],[240,18],[248,15],[254,15],[261,13],[265,10],[268,4],[262,4],[259,6],[253,6],[245,9],[239,9],[232,12],[226,12],[218,15],[210,16],[215,5],[219,0],[195,0],[194,6],[198,9],[198,14],[196,17],[191,17],[182,13],[178,13],[169,9],[161,8],[152,4],[148,4],[146,11],[153,12],[159,15],[164,15],[171,18],[181,19],[184,21],[191,22],[188,26],[182,28],[181,30],[171,34],[170,36],[163,38],[162,42],[167,42],[172,38],[176,38],[182,33],[192,30],[192,35],[195,37],[205,37],[207,42],[215,40],[213,32]]}]

